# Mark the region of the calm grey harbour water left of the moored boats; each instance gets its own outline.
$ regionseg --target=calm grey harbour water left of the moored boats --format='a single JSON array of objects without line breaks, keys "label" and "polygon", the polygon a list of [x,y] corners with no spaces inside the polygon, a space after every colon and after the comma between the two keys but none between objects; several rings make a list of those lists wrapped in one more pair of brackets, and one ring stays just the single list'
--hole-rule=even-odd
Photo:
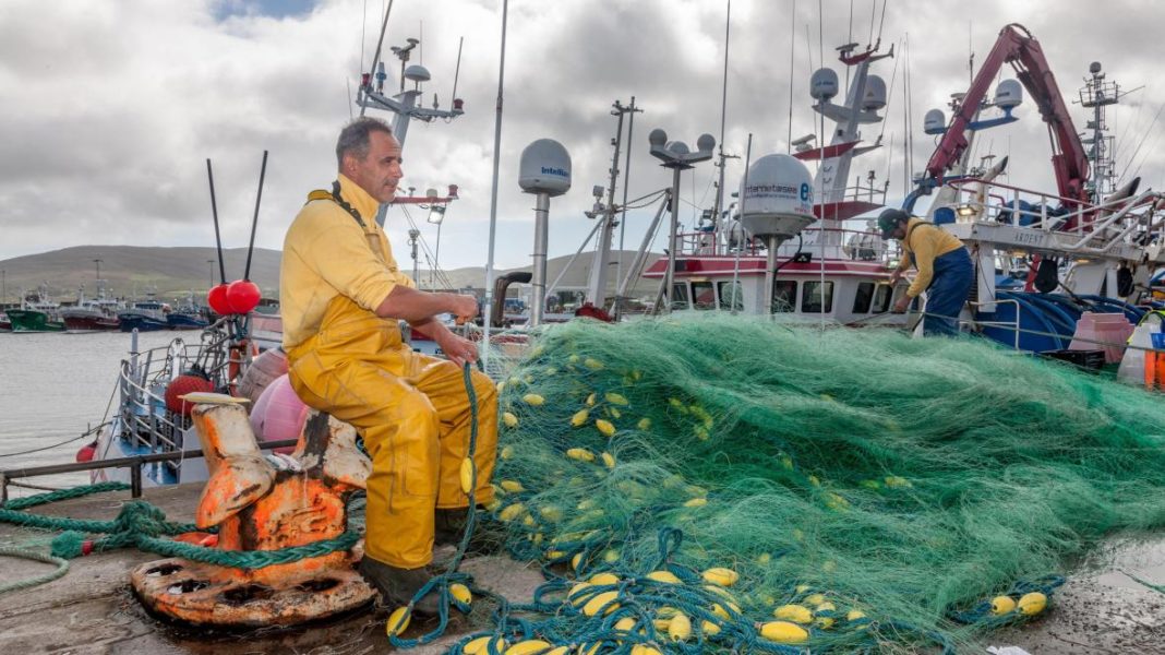
[{"label": "calm grey harbour water left of the moored boats", "polygon": [[[197,339],[197,333],[143,332],[139,348],[191,336]],[[82,435],[99,425],[107,409],[116,410],[113,394],[129,340],[122,332],[0,333],[0,470],[73,462],[89,441]],[[28,481],[72,486],[86,484],[89,474]]]}]

